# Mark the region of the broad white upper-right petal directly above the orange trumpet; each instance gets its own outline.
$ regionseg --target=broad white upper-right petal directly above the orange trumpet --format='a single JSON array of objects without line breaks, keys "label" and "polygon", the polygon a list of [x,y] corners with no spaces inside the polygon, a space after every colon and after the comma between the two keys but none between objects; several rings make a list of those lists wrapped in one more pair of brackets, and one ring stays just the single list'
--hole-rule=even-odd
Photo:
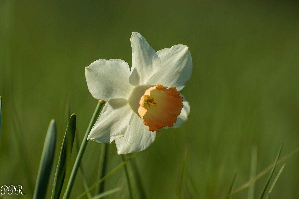
[{"label": "broad white upper-right petal directly above the orange trumpet", "polygon": [[157,52],[161,59],[158,72],[147,84],[161,83],[163,86],[175,86],[178,91],[186,86],[192,71],[191,54],[186,45],[174,45]]}]

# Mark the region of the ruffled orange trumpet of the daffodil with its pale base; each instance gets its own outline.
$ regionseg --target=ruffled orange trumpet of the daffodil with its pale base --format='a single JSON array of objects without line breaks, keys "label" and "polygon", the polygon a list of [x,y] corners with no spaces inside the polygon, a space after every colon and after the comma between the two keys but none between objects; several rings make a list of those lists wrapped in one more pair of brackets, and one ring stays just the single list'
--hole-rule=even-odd
[{"label": "ruffled orange trumpet of the daffodil with its pale base", "polygon": [[154,132],[165,126],[172,127],[176,123],[183,108],[183,98],[179,95],[174,86],[142,85],[135,87],[129,104],[148,130]]}]

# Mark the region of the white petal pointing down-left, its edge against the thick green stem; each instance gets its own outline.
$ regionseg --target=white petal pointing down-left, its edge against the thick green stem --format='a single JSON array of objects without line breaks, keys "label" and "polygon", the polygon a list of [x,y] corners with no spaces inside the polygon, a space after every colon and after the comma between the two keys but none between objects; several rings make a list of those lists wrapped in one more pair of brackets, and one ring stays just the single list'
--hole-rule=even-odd
[{"label": "white petal pointing down-left, its edge against the thick green stem", "polygon": [[126,99],[109,100],[87,139],[100,143],[110,143],[115,138],[123,137],[128,129],[132,115],[136,115]]}]

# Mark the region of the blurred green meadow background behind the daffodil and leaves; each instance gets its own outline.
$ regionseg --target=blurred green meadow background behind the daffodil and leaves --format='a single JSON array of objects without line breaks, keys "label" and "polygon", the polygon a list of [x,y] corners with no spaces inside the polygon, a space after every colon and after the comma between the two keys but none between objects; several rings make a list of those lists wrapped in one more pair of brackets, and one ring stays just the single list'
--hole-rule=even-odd
[{"label": "blurred green meadow background behind the daffodil and leaves", "polygon": [[[0,186],[22,185],[25,192],[4,199],[32,198],[54,118],[50,198],[67,125],[66,101],[77,115],[81,143],[97,105],[84,67],[112,58],[131,65],[132,31],[156,51],[185,44],[193,60],[181,91],[190,103],[189,120],[178,129],[161,130],[164,135],[135,158],[147,198],[174,198],[186,151],[181,198],[224,197],[235,172],[234,188],[241,186],[249,180],[252,146],[257,146],[257,172],[274,162],[282,141],[282,156],[299,146],[298,8],[295,1],[0,0]],[[83,156],[89,186],[97,179],[100,148],[88,141]],[[74,145],[72,164],[76,150]],[[120,162],[112,142],[107,171]],[[272,199],[299,197],[299,154],[285,162]],[[255,183],[254,198],[268,176]],[[119,186],[123,191],[107,198],[128,198],[123,168],[105,181],[106,190]],[[71,198],[84,191],[78,171]],[[247,195],[245,189],[234,198]]]}]

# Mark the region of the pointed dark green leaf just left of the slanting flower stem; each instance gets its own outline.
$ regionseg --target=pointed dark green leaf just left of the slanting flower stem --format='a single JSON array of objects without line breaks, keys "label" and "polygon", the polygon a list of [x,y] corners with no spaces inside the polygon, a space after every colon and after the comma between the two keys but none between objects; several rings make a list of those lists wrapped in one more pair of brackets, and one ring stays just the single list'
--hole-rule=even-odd
[{"label": "pointed dark green leaf just left of the slanting flower stem", "polygon": [[65,178],[66,168],[71,157],[75,132],[76,132],[76,115],[73,114],[71,115],[70,120],[68,122],[68,126],[66,127],[65,135],[60,150],[60,156],[58,159],[58,164],[56,168],[53,189],[52,189],[52,199],[58,199],[60,196],[60,192]]}]

